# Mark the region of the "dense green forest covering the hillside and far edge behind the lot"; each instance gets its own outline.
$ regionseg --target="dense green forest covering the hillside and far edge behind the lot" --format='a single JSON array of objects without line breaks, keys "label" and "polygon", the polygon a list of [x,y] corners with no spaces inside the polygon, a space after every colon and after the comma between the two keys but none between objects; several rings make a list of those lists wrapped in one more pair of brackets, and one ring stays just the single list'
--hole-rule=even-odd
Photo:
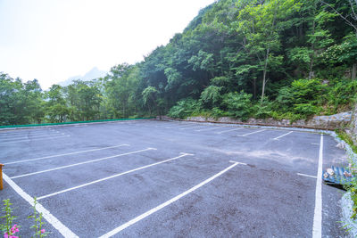
[{"label": "dense green forest covering the hillside and far edge behind the lot", "polygon": [[[1,69],[0,69],[1,70]],[[0,73],[0,125],[168,115],[308,119],[357,92],[357,1],[220,0],[104,78],[44,91]]]}]

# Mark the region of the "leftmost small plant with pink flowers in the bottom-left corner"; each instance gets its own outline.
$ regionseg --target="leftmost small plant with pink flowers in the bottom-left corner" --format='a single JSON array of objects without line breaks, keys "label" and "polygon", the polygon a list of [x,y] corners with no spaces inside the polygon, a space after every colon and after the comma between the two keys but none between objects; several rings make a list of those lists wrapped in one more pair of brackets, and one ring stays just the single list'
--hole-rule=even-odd
[{"label": "leftmost small plant with pink flowers in the bottom-left corner", "polygon": [[4,216],[0,218],[4,218],[5,223],[0,224],[0,229],[2,232],[4,232],[4,238],[17,238],[18,236],[13,234],[19,232],[20,226],[17,226],[16,224],[12,226],[13,220],[16,219],[16,217],[12,215],[12,203],[10,202],[10,199],[6,199],[3,202],[4,208],[2,211],[4,212]]}]

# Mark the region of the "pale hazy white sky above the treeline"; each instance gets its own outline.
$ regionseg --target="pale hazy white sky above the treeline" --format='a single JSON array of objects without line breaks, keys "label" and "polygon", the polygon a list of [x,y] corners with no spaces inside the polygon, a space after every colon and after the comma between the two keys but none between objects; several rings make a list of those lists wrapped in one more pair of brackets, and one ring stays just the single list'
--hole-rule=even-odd
[{"label": "pale hazy white sky above the treeline", "polygon": [[0,0],[0,71],[43,89],[135,63],[214,0]]}]

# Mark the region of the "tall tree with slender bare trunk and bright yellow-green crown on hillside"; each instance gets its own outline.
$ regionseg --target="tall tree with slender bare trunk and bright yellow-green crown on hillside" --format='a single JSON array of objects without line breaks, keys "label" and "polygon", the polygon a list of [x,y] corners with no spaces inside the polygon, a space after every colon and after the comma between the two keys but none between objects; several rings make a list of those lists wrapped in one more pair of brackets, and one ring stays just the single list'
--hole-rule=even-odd
[{"label": "tall tree with slender bare trunk and bright yellow-green crown on hillside", "polygon": [[239,12],[237,31],[245,36],[246,53],[256,57],[257,69],[262,71],[262,97],[265,94],[267,72],[282,64],[278,54],[280,37],[284,29],[292,26],[289,17],[300,8],[295,0],[256,1]]}]

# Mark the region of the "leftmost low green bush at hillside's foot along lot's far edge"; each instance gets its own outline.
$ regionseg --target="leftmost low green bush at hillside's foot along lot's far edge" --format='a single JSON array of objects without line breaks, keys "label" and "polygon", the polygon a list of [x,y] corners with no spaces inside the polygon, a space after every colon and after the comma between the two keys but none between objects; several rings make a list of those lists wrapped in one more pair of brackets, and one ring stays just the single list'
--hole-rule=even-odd
[{"label": "leftmost low green bush at hillside's foot along lot's far edge", "polygon": [[201,103],[192,98],[185,98],[176,103],[175,106],[170,108],[169,117],[185,119],[191,116],[195,111],[199,111],[201,108]]}]

